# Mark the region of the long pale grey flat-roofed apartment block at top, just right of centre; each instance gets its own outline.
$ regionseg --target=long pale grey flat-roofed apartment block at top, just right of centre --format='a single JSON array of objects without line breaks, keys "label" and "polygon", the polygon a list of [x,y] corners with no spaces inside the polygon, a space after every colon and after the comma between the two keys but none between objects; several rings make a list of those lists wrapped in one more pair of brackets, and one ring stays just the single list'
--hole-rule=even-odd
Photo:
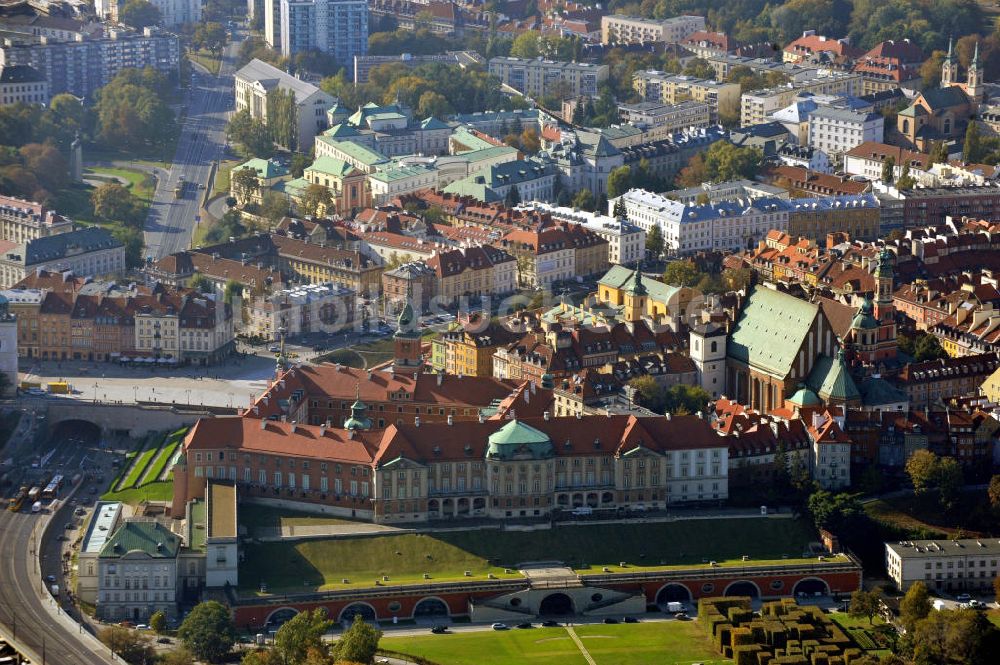
[{"label": "long pale grey flat-roofed apartment block at top, just right of centre", "polygon": [[587,62],[555,62],[536,58],[490,59],[490,74],[515,90],[541,97],[561,86],[566,97],[596,97],[597,87],[608,80],[607,65]]}]

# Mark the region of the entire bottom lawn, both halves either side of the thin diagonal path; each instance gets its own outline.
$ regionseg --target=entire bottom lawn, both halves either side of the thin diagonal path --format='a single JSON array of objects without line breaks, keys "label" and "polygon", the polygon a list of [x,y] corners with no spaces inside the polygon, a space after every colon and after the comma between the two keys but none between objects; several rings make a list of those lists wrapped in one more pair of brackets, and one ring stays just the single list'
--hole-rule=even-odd
[{"label": "entire bottom lawn, both halves either side of the thin diagonal path", "polygon": [[[574,628],[597,665],[729,663],[720,658],[695,622],[586,625]],[[386,637],[384,649],[440,665],[469,665],[470,654],[489,654],[490,665],[586,665],[565,628]]]}]

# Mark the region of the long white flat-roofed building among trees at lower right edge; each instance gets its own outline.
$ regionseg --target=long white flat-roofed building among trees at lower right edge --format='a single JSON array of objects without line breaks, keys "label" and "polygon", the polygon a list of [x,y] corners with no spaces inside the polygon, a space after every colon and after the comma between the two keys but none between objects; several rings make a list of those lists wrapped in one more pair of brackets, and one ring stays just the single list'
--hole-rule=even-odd
[{"label": "long white flat-roofed building among trees at lower right edge", "polygon": [[969,591],[993,596],[1000,540],[906,540],[885,544],[885,568],[896,588],[923,582],[933,591]]}]

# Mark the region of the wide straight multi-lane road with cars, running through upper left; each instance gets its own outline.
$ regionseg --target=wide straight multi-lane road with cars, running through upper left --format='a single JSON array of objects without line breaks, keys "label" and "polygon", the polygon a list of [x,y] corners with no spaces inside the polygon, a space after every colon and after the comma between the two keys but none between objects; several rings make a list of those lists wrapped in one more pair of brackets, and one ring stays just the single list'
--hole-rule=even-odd
[{"label": "wide straight multi-lane road with cars, running through upper left", "polygon": [[[218,76],[196,73],[188,92],[187,117],[177,141],[177,152],[169,171],[160,171],[156,192],[146,218],[146,256],[154,260],[191,246],[212,162],[223,156],[226,122],[233,101],[233,62],[239,42],[223,53]],[[183,178],[184,195],[174,189]]]}]

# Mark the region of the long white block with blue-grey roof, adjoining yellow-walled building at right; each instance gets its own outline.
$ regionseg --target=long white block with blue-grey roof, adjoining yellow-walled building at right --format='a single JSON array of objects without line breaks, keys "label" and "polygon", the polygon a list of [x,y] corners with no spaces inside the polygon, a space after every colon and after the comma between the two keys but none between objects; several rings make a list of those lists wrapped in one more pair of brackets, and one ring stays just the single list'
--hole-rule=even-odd
[{"label": "long white block with blue-grey roof, adjoining yellow-walled building at right", "polygon": [[[739,251],[755,247],[772,229],[788,230],[788,206],[775,198],[687,205],[642,189],[631,189],[619,198],[625,202],[628,221],[646,233],[659,226],[665,251],[675,256]],[[617,201],[608,201],[609,212]]]}]

